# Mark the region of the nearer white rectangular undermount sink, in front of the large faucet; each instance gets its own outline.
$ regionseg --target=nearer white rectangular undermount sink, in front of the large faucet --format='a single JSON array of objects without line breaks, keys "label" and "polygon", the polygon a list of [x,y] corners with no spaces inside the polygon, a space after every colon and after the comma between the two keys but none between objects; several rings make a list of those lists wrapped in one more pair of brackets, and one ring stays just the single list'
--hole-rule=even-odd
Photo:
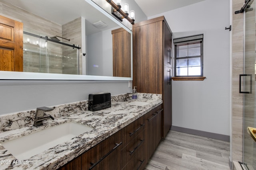
[{"label": "nearer white rectangular undermount sink, in front of the large faucet", "polygon": [[74,122],[67,122],[11,141],[1,143],[18,160],[27,160],[60,143],[93,129]]}]

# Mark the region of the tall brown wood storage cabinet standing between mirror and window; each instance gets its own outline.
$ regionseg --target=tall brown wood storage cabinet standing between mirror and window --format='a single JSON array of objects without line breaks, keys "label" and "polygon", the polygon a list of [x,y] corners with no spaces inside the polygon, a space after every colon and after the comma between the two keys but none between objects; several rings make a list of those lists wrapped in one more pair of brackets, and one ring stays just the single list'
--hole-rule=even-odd
[{"label": "tall brown wood storage cabinet standing between mirror and window", "polygon": [[133,25],[133,86],[162,94],[162,137],[172,126],[172,31],[164,16]]}]

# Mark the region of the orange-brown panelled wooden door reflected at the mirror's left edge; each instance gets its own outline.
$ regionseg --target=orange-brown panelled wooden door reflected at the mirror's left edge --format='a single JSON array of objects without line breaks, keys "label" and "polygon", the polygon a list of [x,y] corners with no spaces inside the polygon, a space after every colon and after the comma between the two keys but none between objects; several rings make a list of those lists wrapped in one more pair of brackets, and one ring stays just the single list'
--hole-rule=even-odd
[{"label": "orange-brown panelled wooden door reflected at the mirror's left edge", "polygon": [[0,70],[23,71],[23,23],[0,16]]}]

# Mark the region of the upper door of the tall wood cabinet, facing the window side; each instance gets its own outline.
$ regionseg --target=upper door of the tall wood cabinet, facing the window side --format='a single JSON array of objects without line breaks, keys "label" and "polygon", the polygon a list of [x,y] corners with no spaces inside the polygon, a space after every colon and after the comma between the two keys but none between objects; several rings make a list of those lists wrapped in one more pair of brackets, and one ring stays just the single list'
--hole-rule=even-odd
[{"label": "upper door of the tall wood cabinet, facing the window side", "polygon": [[172,34],[168,26],[163,22],[164,27],[164,65],[172,67]]}]

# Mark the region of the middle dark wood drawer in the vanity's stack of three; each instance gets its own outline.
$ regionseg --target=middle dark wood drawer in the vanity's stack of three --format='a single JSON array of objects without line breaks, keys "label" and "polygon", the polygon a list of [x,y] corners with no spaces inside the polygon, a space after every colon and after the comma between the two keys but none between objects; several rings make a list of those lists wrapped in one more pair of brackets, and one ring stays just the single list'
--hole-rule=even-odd
[{"label": "middle dark wood drawer in the vanity's stack of three", "polygon": [[[127,162],[137,153],[141,152],[141,147],[145,147],[145,130],[138,134],[126,147],[121,150],[121,167],[124,167]],[[145,153],[144,153],[145,154]]]}]

